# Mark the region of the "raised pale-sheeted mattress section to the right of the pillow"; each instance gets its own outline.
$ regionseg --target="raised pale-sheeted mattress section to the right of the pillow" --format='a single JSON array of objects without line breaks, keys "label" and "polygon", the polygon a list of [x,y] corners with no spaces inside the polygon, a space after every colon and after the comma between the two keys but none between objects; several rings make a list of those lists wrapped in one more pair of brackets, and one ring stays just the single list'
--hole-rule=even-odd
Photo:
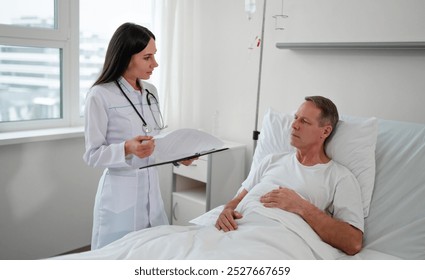
[{"label": "raised pale-sheeted mattress section to the right of the pillow", "polygon": [[425,259],[425,125],[379,120],[365,248]]}]

